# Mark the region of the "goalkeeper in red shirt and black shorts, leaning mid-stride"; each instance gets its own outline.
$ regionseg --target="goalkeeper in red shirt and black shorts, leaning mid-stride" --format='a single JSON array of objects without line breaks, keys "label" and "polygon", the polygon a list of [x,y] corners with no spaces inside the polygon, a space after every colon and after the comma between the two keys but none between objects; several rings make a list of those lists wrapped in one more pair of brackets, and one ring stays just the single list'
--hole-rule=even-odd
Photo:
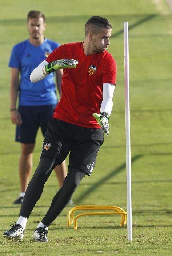
[{"label": "goalkeeper in red shirt and black shorts, leaning mid-stride", "polygon": [[85,175],[91,175],[109,116],[116,85],[116,62],[108,53],[112,27],[100,16],[85,24],[85,41],[56,48],[31,73],[31,82],[63,69],[61,99],[47,125],[40,162],[29,182],[19,219],[3,236],[22,240],[27,219],[39,200],[52,170],[69,155],[68,174],[49,210],[33,232],[33,240],[47,242],[47,230],[71,199]]}]

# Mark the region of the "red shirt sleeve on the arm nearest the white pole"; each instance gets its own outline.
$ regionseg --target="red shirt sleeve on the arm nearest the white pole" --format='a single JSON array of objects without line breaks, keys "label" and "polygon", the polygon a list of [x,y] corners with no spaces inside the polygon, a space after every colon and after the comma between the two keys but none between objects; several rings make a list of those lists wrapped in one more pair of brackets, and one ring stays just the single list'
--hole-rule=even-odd
[{"label": "red shirt sleeve on the arm nearest the white pole", "polygon": [[116,61],[110,53],[105,56],[103,61],[103,83],[112,83],[116,85],[117,67]]}]

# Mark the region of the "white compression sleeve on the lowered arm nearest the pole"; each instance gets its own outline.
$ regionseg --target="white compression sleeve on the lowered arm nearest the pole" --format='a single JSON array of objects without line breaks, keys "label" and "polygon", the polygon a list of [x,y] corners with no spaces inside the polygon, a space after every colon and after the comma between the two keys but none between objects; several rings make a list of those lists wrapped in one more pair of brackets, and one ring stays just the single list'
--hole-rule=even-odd
[{"label": "white compression sleeve on the lowered arm nearest the pole", "polygon": [[106,112],[110,116],[113,106],[113,92],[115,85],[111,83],[103,83],[103,99],[101,102],[100,112]]}]

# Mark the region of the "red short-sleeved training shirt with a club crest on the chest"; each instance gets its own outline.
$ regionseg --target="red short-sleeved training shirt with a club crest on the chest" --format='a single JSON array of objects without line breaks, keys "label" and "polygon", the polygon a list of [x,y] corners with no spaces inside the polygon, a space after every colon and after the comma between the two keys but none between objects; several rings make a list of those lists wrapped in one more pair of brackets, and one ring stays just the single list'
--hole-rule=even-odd
[{"label": "red short-sleeved training shirt with a club crest on the chest", "polygon": [[116,62],[107,51],[86,56],[83,42],[59,46],[45,59],[48,63],[74,59],[76,68],[63,69],[61,99],[54,118],[88,128],[100,128],[93,113],[100,112],[103,83],[116,84]]}]

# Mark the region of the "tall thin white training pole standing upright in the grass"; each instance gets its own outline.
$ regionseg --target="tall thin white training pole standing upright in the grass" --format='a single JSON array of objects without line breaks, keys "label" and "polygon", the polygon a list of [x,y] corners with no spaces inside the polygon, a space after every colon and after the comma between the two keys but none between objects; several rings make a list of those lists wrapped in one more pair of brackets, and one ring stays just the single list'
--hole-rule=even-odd
[{"label": "tall thin white training pole standing upright in the grass", "polygon": [[126,167],[127,167],[127,231],[128,231],[128,240],[132,241],[128,22],[124,22],[124,69],[125,69],[125,133],[126,133]]}]

